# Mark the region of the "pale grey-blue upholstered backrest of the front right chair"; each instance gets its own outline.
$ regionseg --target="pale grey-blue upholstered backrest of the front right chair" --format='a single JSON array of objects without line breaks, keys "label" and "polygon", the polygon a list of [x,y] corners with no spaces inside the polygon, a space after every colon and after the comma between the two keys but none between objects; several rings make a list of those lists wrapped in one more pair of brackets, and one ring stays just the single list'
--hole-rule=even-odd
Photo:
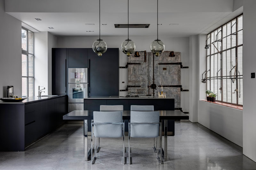
[{"label": "pale grey-blue upholstered backrest of the front right chair", "polygon": [[[159,123],[159,111],[131,111],[131,123]],[[156,138],[159,124],[131,124],[133,138]]]}]

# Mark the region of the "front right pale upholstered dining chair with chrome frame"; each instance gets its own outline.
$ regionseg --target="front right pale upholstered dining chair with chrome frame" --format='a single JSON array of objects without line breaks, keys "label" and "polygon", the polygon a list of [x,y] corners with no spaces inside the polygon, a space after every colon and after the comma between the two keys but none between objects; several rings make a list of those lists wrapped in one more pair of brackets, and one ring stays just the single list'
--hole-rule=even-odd
[{"label": "front right pale upholstered dining chair with chrome frame", "polygon": [[156,142],[157,159],[159,163],[162,164],[162,124],[159,123],[159,111],[131,111],[131,122],[128,124],[128,127],[129,164],[131,164],[130,137],[154,139],[157,138],[156,141],[159,140],[159,148],[157,144],[158,142]]}]

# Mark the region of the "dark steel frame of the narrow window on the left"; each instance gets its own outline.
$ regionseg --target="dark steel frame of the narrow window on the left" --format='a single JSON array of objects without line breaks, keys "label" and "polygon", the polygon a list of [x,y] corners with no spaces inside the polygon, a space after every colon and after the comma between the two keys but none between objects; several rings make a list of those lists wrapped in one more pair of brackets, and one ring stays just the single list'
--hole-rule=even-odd
[{"label": "dark steel frame of the narrow window on the left", "polygon": [[[27,78],[27,97],[30,97],[30,96],[28,96],[28,94],[29,94],[29,89],[28,89],[28,87],[29,87],[29,83],[28,83],[28,80],[29,80],[29,78],[33,78],[33,95],[34,95],[34,89],[35,89],[35,72],[34,72],[34,32],[33,32],[33,54],[32,53],[28,53],[28,31],[30,31],[30,30],[28,30],[27,28],[24,28],[24,27],[21,27],[21,29],[23,29],[23,30],[26,30],[27,31],[27,49],[26,50],[23,50],[23,49],[21,49],[21,55],[23,54],[23,55],[26,55],[27,56],[27,76],[21,76],[21,77],[25,77],[25,78]],[[30,32],[32,32],[32,31],[30,31]],[[33,76],[29,76],[28,75],[28,55],[32,55],[32,57],[33,57]],[[23,88],[23,87],[22,87]]]}]

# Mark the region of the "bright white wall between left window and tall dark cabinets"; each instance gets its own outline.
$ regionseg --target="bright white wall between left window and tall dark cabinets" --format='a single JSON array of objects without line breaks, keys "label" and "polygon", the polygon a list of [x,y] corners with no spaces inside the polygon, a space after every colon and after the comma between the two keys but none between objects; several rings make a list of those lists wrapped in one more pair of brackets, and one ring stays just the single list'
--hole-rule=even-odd
[{"label": "bright white wall between left window and tall dark cabinets", "polygon": [[44,86],[42,95],[52,94],[52,48],[57,37],[49,32],[35,32],[35,96],[38,86]]}]

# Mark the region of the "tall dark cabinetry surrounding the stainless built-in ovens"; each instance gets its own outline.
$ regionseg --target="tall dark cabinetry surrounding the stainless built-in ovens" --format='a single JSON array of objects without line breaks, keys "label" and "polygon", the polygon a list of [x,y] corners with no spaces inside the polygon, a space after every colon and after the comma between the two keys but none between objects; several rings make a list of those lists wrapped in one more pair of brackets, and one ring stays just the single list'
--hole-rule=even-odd
[{"label": "tall dark cabinetry surrounding the stainless built-in ovens", "polygon": [[118,96],[119,49],[99,57],[92,48],[52,48],[52,94],[67,94],[68,68],[88,68],[88,96]]}]

